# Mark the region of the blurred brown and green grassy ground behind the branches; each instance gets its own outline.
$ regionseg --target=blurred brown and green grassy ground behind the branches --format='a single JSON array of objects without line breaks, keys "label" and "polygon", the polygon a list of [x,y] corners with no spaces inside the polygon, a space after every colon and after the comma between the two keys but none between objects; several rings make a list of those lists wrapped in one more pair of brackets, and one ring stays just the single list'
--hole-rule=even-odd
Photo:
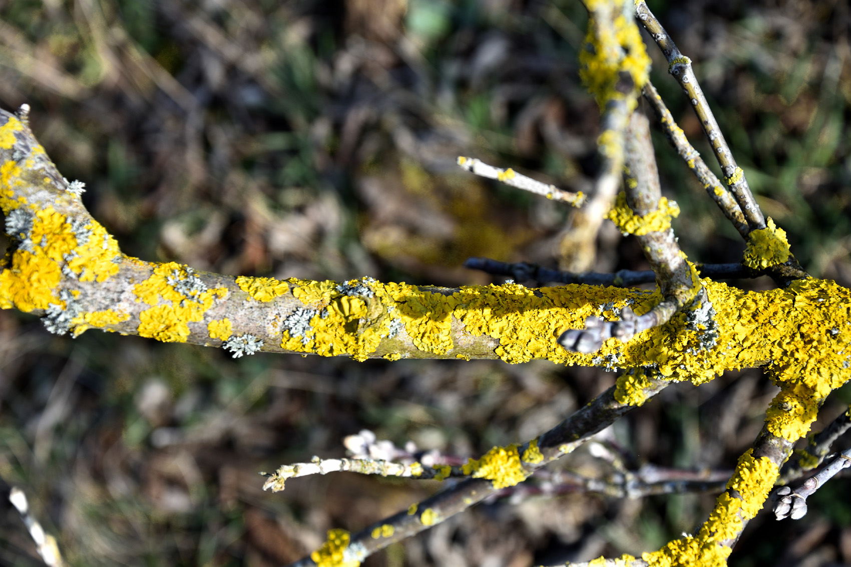
[{"label": "blurred brown and green grassy ground behind the branches", "polygon": [[[649,4],[694,60],[798,259],[851,283],[848,3]],[[33,131],[63,175],[87,184],[83,202],[126,254],[232,275],[500,282],[461,265],[488,256],[557,267],[569,211],[454,160],[588,189],[598,112],[578,80],[585,22],[575,0],[0,0],[0,105],[31,105]],[[665,61],[648,51],[654,83],[709,157]],[[689,258],[738,261],[738,234],[659,132],[654,142]],[[597,270],[621,268],[647,265],[609,225]],[[71,340],[3,311],[0,565],[40,564],[6,503],[13,485],[71,565],[286,564],[326,530],[359,530],[439,485],[337,473],[272,495],[259,471],[342,456],[341,439],[363,428],[478,456],[534,438],[613,383],[542,361],[232,360],[96,331]],[[774,392],[756,370],[669,387],[600,440],[632,468],[729,470]],[[814,428],[849,402],[836,392]],[[557,468],[614,472],[587,450]],[[837,478],[802,520],[761,513],[730,564],[851,563],[849,494]],[[714,496],[504,498],[366,564],[638,555],[693,532]]]}]

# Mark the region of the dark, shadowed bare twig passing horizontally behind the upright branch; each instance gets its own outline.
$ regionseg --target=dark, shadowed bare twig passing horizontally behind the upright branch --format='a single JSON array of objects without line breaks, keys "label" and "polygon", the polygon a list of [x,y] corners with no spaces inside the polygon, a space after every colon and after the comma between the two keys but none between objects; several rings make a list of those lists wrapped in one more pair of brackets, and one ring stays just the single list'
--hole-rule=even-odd
[{"label": "dark, shadowed bare twig passing horizontally behind the upright branch", "polygon": [[[628,288],[639,283],[654,283],[656,274],[652,270],[635,272],[618,270],[614,273],[600,272],[562,272],[551,270],[528,262],[500,262],[490,258],[467,258],[465,268],[481,270],[495,276],[511,276],[519,283],[552,282],[584,283],[585,285],[614,285]],[[712,279],[748,279],[765,275],[765,270],[754,270],[739,263],[731,264],[695,264],[694,267],[703,278]]]}]

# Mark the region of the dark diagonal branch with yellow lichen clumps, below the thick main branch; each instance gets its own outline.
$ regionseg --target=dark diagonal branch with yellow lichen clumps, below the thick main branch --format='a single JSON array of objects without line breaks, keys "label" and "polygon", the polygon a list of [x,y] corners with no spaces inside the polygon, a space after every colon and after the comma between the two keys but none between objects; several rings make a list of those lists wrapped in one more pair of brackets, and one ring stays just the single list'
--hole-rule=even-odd
[{"label": "dark diagonal branch with yellow lichen clumps, below the thick main branch", "polygon": [[[664,380],[648,381],[640,395],[645,399],[651,398],[669,384],[670,381]],[[319,567],[357,567],[363,558],[391,543],[427,530],[431,525],[463,512],[489,495],[523,482],[535,470],[568,455],[592,435],[634,409],[634,405],[619,402],[617,395],[616,388],[611,387],[540,437],[519,446],[511,444],[507,447],[494,447],[481,459],[471,459],[464,467],[465,475],[471,478],[466,478],[425,501],[412,505],[407,511],[397,513],[353,534],[346,530],[330,530],[328,541],[323,547],[291,567],[308,567],[314,564]],[[448,477],[449,468],[442,468],[445,471],[442,478]],[[290,472],[288,467],[278,469],[275,475],[268,478],[265,488],[283,490],[283,482]]]}]

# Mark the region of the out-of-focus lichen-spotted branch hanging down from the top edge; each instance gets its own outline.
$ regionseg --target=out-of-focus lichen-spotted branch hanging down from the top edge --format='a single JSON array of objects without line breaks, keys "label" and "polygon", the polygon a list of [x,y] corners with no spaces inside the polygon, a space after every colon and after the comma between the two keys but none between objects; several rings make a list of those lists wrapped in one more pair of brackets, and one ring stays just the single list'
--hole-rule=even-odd
[{"label": "out-of-focus lichen-spotted branch hanging down from the top edge", "polygon": [[597,137],[600,170],[591,198],[571,215],[571,231],[561,245],[566,266],[574,272],[593,265],[597,232],[620,186],[624,132],[650,71],[650,58],[624,0],[589,1],[585,8],[589,20],[580,77],[602,113]]}]

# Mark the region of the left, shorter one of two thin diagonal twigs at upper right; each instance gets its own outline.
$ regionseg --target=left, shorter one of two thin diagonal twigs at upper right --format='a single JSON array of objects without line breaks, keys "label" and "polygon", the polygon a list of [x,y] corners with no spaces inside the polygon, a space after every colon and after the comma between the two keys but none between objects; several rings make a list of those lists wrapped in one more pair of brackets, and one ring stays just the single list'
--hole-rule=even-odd
[{"label": "left, shorter one of two thin diagonal twigs at upper right", "polygon": [[671,111],[665,105],[665,101],[662,100],[653,83],[649,81],[644,85],[644,99],[650,103],[650,107],[659,119],[662,129],[665,130],[665,137],[671,142],[671,146],[674,146],[680,158],[683,158],[688,169],[691,169],[694,176],[703,185],[706,193],[715,201],[728,221],[739,231],[742,238],[747,240],[750,229],[747,226],[747,221],[745,221],[745,216],[742,215],[739,203],[736,203],[733,195],[728,192],[726,187],[722,186],[721,181],[712,173],[703,158],[700,158],[700,153],[688,142],[683,129],[677,126]]}]

